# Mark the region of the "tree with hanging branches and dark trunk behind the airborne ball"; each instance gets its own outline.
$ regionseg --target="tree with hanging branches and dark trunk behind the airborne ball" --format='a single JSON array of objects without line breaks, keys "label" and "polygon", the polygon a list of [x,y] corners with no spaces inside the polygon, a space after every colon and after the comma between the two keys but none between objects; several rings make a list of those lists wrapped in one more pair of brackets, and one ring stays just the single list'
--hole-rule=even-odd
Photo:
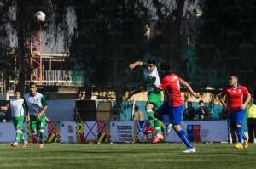
[{"label": "tree with hanging branches and dark trunk behind the airborne ball", "polygon": [[[39,25],[34,21],[33,16],[38,10],[42,10],[47,15],[47,24],[44,25],[45,32],[48,32],[48,37],[52,36],[50,32],[55,32],[54,37],[57,37],[60,32],[67,33],[67,3],[69,1],[37,1],[37,0],[2,0],[0,16],[4,19],[5,26],[1,32],[6,32],[6,36],[1,37],[3,40],[9,39],[9,34],[17,36],[17,51],[18,51],[18,84],[21,93],[24,92],[26,76],[30,75],[28,68],[28,39],[38,31]],[[66,7],[66,8],[63,8]],[[14,16],[15,15],[15,16]],[[1,20],[3,21],[3,20]],[[0,24],[1,24],[0,21]],[[68,36],[65,36],[68,37]],[[15,38],[15,37],[14,37]],[[52,37],[51,37],[52,38]],[[47,38],[48,41],[50,38]],[[66,38],[67,39],[67,38]],[[56,39],[55,39],[56,40]],[[12,65],[15,67],[15,65]]]}]

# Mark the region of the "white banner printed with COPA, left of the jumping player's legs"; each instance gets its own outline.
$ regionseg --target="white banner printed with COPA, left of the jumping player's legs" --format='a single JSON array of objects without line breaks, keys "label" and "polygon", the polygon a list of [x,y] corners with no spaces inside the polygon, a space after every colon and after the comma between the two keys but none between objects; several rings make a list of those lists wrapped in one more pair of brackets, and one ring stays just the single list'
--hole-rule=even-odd
[{"label": "white banner printed with COPA, left of the jumping player's legs", "polygon": [[134,142],[134,124],[134,121],[111,121],[111,140],[113,142]]}]

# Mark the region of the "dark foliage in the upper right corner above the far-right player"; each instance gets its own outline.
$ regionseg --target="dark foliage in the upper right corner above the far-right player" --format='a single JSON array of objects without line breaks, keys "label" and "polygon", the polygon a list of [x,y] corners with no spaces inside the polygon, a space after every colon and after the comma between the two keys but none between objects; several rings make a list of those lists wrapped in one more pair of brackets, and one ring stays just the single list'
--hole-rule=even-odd
[{"label": "dark foliage in the upper right corner above the far-right player", "polygon": [[219,87],[228,74],[236,74],[243,84],[256,87],[255,8],[253,0],[203,1],[197,64],[212,77],[207,84]]}]

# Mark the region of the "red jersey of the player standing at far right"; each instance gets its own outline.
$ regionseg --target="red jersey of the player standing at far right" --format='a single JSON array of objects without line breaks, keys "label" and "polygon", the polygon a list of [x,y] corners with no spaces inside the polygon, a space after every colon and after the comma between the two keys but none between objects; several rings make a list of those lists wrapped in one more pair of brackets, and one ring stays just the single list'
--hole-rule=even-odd
[{"label": "red jersey of the player standing at far right", "polygon": [[226,95],[228,108],[230,111],[240,110],[241,104],[243,104],[243,96],[248,96],[249,92],[247,87],[239,85],[238,87],[223,87],[222,93],[223,96]]}]

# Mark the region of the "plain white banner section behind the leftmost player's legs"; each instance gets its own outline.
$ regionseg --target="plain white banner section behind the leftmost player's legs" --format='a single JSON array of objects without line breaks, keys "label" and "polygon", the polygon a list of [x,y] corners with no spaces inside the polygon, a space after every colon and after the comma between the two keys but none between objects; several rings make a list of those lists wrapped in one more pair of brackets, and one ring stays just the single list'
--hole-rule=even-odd
[{"label": "plain white banner section behind the leftmost player's legs", "polygon": [[[24,137],[27,139],[27,125],[23,123]],[[0,122],[0,142],[11,143],[15,141],[16,130],[12,122]]]}]

